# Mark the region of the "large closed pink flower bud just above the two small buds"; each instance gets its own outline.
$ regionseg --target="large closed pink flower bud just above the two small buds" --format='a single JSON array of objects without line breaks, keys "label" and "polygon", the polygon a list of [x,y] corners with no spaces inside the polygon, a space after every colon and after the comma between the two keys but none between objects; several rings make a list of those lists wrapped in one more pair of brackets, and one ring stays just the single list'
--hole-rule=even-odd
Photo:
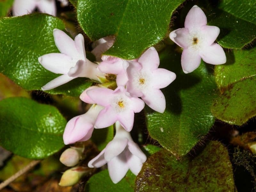
[{"label": "large closed pink flower bud just above the two small buds", "polygon": [[85,114],[70,119],[63,134],[64,144],[89,140],[92,137],[97,116],[102,109],[100,105],[93,105]]}]

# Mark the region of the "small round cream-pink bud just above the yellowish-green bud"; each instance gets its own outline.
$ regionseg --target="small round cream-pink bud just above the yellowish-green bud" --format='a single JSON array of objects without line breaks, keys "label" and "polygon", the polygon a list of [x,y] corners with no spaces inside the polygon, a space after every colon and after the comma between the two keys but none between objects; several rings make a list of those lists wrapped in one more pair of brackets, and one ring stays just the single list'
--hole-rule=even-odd
[{"label": "small round cream-pink bud just above the yellowish-green bud", "polygon": [[60,162],[68,167],[78,164],[82,158],[82,150],[80,148],[68,148],[60,156]]}]

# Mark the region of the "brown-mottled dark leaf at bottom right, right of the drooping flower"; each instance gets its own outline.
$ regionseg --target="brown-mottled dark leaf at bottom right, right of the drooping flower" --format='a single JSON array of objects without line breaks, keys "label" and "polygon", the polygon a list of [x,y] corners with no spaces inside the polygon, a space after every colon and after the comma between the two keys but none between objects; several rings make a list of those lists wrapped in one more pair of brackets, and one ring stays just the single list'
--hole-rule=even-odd
[{"label": "brown-mottled dark leaf at bottom right, right of the drooping flower", "polygon": [[194,159],[177,161],[162,149],[150,156],[136,178],[136,191],[230,191],[235,190],[227,149],[211,141]]}]

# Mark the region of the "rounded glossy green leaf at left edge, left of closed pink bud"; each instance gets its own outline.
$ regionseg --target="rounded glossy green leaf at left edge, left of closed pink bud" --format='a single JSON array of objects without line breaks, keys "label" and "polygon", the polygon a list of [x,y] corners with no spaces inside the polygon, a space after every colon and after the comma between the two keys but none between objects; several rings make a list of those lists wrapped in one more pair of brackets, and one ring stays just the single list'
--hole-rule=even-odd
[{"label": "rounded glossy green leaf at left edge, left of closed pink bud", "polygon": [[56,108],[22,97],[1,100],[0,108],[0,145],[7,150],[42,159],[64,146],[67,122]]}]

